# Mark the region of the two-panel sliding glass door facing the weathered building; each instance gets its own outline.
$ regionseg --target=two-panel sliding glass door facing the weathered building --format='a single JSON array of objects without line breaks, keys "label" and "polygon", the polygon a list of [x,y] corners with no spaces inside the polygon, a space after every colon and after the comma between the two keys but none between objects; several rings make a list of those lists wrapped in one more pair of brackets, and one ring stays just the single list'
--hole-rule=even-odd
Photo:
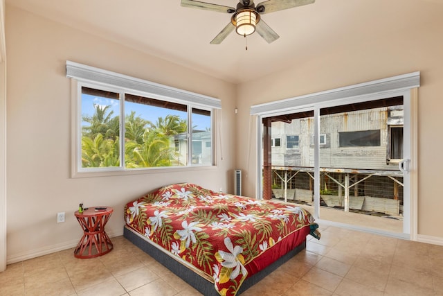
[{"label": "two-panel sliding glass door facing the weathered building", "polygon": [[298,204],[332,224],[410,232],[408,92],[259,118],[262,198]]}]

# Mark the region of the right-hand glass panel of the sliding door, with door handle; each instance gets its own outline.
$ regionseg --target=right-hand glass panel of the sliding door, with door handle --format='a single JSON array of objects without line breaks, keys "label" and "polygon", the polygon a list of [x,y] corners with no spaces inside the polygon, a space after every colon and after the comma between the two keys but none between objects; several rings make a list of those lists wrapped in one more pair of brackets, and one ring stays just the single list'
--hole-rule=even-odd
[{"label": "right-hand glass panel of the sliding door, with door handle", "polygon": [[319,217],[402,233],[403,96],[320,108]]}]

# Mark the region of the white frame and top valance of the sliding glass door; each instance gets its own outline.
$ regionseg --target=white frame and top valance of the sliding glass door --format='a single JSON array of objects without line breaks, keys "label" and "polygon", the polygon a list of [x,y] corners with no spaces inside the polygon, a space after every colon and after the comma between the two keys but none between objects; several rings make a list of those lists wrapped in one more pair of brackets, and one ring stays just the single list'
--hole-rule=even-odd
[{"label": "white frame and top valance of the sliding glass door", "polygon": [[384,78],[359,85],[332,89],[326,92],[309,94],[288,98],[281,101],[254,105],[251,115],[257,115],[257,197],[262,198],[262,119],[269,116],[297,113],[314,110],[314,177],[320,179],[319,168],[319,135],[320,135],[320,109],[348,103],[374,101],[381,98],[403,96],[404,98],[404,159],[409,159],[409,171],[404,173],[404,216],[403,233],[396,234],[365,227],[346,225],[323,221],[319,217],[320,208],[320,183],[314,182],[314,218],[318,222],[337,225],[366,232],[383,234],[417,240],[417,87],[419,87],[419,72]]}]

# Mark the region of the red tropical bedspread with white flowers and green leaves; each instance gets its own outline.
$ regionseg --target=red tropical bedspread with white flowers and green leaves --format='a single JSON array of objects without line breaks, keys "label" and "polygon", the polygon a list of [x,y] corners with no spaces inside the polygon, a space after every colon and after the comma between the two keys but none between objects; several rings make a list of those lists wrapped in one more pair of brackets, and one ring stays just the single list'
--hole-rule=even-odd
[{"label": "red tropical bedspread with white flowers and green leaves", "polygon": [[220,295],[235,295],[248,273],[244,266],[282,238],[302,227],[311,227],[314,234],[318,227],[301,207],[188,183],[165,186],[129,202],[125,220],[136,232],[213,277]]}]

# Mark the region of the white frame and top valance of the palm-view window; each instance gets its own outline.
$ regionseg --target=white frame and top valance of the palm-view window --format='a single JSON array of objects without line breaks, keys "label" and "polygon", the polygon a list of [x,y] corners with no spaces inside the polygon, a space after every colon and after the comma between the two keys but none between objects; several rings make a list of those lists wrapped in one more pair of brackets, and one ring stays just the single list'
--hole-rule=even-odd
[{"label": "white frame and top valance of the palm-view window", "polygon": [[[95,67],[90,67],[76,62],[66,61],[66,77],[71,79],[71,110],[72,110],[72,177],[97,177],[106,175],[126,175],[140,173],[159,173],[159,171],[181,171],[183,169],[205,169],[214,168],[215,164],[215,118],[217,110],[221,109],[221,101],[217,98],[204,96],[183,89],[177,89],[166,85],[160,85],[155,82],[125,76]],[[188,106],[188,125],[190,123],[190,112],[192,108],[208,110],[211,112],[211,165],[192,164],[191,147],[188,147],[188,166],[164,166],[156,168],[125,168],[124,150],[120,141],[120,166],[107,168],[82,168],[82,149],[81,149],[81,96],[82,86],[96,89],[108,90],[120,94],[120,114],[124,113],[124,94],[136,94],[147,98],[154,98],[161,101],[170,101]],[[123,117],[123,116],[120,116]],[[123,141],[122,134],[125,134],[125,126],[120,119],[120,139]],[[122,126],[123,125],[123,126]],[[192,131],[188,131],[188,140],[191,139]],[[190,146],[188,141],[188,146]]]}]

